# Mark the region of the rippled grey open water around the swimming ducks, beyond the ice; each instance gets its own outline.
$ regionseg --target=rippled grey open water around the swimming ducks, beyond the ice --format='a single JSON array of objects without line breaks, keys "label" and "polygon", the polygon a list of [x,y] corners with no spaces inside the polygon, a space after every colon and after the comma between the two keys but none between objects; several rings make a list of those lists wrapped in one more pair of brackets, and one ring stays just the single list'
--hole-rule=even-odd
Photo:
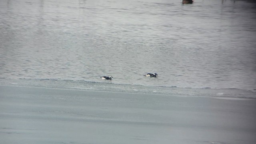
[{"label": "rippled grey open water around the swimming ducks, beyond the ice", "polygon": [[246,0],[1,0],[0,83],[255,96],[255,26]]}]

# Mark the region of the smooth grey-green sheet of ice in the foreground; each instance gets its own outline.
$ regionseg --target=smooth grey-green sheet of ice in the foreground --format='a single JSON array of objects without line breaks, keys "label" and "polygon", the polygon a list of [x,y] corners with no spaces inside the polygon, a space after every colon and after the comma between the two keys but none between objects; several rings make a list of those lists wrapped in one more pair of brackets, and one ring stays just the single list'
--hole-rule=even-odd
[{"label": "smooth grey-green sheet of ice in the foreground", "polygon": [[254,99],[0,86],[3,144],[255,144]]}]

